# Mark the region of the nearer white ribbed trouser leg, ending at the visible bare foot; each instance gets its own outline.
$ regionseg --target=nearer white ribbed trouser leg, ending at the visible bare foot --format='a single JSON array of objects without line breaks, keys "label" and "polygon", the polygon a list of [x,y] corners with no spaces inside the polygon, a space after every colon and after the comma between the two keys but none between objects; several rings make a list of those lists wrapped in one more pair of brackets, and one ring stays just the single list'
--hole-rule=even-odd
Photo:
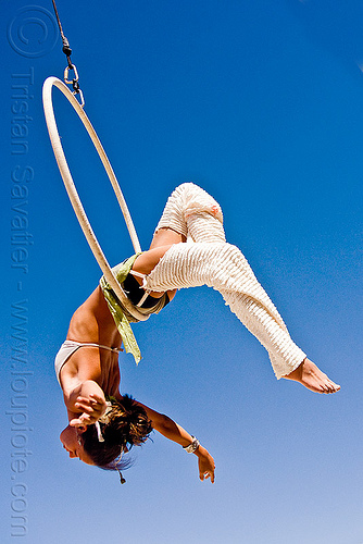
[{"label": "nearer white ribbed trouser leg, ending at the visible bare foot", "polygon": [[168,290],[208,285],[267,349],[277,378],[292,372],[305,354],[293,344],[275,306],[240,250],[227,243],[176,244],[146,279],[147,288]]}]

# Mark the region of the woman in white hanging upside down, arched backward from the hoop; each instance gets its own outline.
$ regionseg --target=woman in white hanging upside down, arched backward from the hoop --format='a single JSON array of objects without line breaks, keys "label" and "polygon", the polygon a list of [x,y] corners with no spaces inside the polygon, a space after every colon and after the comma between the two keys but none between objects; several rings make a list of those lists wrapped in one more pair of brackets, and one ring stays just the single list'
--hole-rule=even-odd
[{"label": "woman in white hanging upside down, arched backward from the hoop", "polygon": [[[214,287],[267,349],[277,379],[298,381],[317,393],[340,388],[292,342],[243,255],[226,243],[220,205],[197,185],[186,183],[173,191],[150,249],[114,272],[132,304],[147,314],[159,312],[180,287]],[[213,482],[213,458],[197,438],[167,416],[120,394],[122,343],[140,359],[129,321],[135,319],[103,277],[74,313],[55,359],[70,421],[61,433],[63,446],[70,457],[118,470],[123,453],[154,429],[193,453],[200,479]]]}]

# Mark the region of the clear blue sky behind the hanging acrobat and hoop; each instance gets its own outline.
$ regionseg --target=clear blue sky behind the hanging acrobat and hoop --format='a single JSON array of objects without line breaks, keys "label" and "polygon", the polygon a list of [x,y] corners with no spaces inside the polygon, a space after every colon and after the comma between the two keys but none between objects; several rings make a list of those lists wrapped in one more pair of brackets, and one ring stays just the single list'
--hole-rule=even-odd
[{"label": "clear blue sky behind the hanging acrobat and hoop", "polygon": [[[157,434],[135,452],[124,486],[67,458],[53,358],[100,271],[43,120],[42,82],[62,78],[66,65],[51,1],[3,0],[1,542],[361,544],[361,2],[58,0],[58,8],[86,112],[142,248],[174,186],[202,185],[297,344],[342,388],[320,396],[277,382],[267,354],[217,293],[180,292],[134,327],[143,359],[136,367],[121,356],[122,391],[196,434],[215,458],[215,484],[201,483],[195,457]],[[115,198],[57,90],[54,108],[114,264],[133,252]],[[20,214],[28,233],[21,240]],[[12,407],[21,395],[22,407]]]}]

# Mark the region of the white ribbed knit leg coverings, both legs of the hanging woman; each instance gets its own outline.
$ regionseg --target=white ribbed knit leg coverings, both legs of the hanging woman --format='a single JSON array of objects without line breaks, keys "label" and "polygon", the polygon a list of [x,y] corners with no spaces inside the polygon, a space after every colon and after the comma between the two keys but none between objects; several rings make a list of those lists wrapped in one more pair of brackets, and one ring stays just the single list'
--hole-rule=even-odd
[{"label": "white ribbed knit leg coverings, both legs of the hanging woman", "polygon": [[208,285],[267,349],[277,379],[305,358],[255,279],[241,251],[225,242],[220,205],[192,183],[179,185],[168,198],[157,231],[173,228],[193,243],[175,244],[145,280],[145,287],[168,290]]}]

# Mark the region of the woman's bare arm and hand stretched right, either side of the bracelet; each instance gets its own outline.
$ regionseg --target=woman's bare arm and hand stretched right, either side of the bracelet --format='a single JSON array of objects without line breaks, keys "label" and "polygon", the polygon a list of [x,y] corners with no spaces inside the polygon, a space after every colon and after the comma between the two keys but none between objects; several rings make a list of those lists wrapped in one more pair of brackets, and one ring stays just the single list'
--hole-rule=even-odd
[{"label": "woman's bare arm and hand stretched right, either side of the bracelet", "polygon": [[[192,436],[183,426],[178,425],[167,416],[152,410],[148,406],[138,403],[147,412],[151,421],[152,428],[166,438],[180,444],[180,446],[189,446],[192,442]],[[201,445],[198,446],[193,454],[198,457],[199,478],[200,480],[211,479],[214,483],[214,459],[211,454]]]}]

